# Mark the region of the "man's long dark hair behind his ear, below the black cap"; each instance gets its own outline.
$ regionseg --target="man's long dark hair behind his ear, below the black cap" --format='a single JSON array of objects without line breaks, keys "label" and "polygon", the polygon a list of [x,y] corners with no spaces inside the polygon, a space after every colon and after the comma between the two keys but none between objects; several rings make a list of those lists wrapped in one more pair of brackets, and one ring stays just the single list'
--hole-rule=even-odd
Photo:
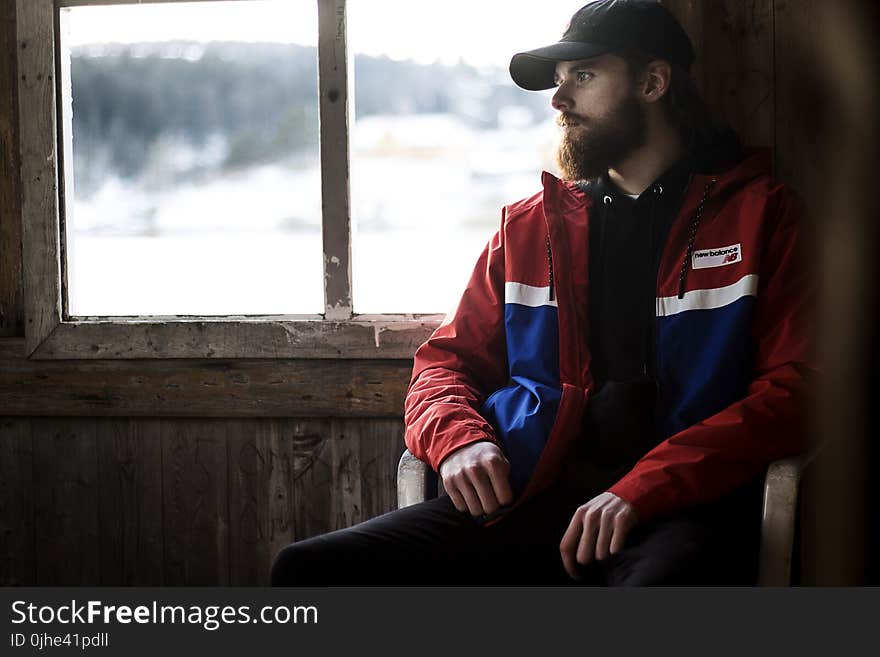
[{"label": "man's long dark hair behind his ear, below the black cap", "polygon": [[[626,62],[630,77],[637,80],[657,57],[639,51],[616,51]],[[669,124],[678,130],[689,153],[698,153],[711,144],[724,126],[717,123],[709,112],[700,92],[687,71],[670,63],[672,76],[669,90],[660,99]]]}]

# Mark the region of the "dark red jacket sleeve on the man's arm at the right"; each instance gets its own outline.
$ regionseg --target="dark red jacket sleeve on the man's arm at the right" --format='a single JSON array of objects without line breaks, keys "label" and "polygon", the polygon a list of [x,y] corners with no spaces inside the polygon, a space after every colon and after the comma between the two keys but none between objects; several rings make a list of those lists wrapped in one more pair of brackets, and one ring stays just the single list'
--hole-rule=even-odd
[{"label": "dark red jacket sleeve on the man's arm at the right", "polygon": [[609,489],[640,520],[717,500],[805,447],[815,287],[802,261],[803,204],[786,188],[775,191],[752,326],[755,377],[745,397],[670,436]]}]

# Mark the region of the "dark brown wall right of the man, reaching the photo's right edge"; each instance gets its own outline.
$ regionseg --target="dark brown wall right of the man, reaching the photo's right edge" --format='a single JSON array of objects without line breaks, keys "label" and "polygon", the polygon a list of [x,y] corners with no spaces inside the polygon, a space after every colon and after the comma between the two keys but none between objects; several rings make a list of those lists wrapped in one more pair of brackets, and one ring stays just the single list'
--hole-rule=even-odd
[{"label": "dark brown wall right of the man, reaching the photo's right edge", "polygon": [[811,438],[825,447],[806,481],[802,581],[876,583],[877,3],[664,4],[703,55],[696,80],[715,115],[773,147],[777,178],[806,202],[822,368]]}]

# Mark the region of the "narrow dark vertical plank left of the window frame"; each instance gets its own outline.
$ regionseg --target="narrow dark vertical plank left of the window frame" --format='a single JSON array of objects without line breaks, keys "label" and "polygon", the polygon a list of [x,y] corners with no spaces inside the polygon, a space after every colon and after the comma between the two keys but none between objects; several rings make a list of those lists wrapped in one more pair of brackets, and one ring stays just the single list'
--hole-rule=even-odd
[{"label": "narrow dark vertical plank left of the window frame", "polygon": [[[15,49],[15,0],[0,0],[0,52]],[[0,336],[24,335],[16,66],[0,58]]]}]

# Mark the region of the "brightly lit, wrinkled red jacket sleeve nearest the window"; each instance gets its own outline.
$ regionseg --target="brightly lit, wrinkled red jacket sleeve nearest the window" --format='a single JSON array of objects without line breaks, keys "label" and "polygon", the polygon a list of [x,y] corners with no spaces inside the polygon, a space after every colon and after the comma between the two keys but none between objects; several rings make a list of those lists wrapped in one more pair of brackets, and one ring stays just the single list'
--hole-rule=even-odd
[{"label": "brightly lit, wrinkled red jacket sleeve nearest the window", "polygon": [[434,470],[469,443],[497,443],[479,409],[507,381],[503,241],[502,224],[456,308],[415,354],[404,404],[404,440]]}]

